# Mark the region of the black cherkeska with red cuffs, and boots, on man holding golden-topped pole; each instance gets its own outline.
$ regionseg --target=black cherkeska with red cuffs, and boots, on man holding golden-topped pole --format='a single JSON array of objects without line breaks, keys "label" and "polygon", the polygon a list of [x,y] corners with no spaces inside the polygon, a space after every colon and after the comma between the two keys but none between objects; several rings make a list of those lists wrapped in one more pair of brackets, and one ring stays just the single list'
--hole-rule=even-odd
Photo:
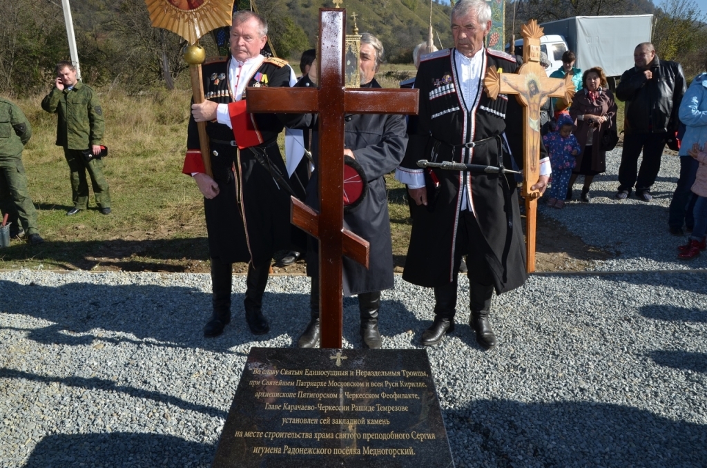
[{"label": "black cherkeska with red cuffs, and boots, on man holding golden-topped pole", "polygon": [[[231,57],[229,60],[232,60]],[[284,60],[269,58],[252,72],[248,86],[289,86],[291,69]],[[243,100],[235,102],[228,83],[229,62],[218,60],[202,68],[205,98],[228,104],[233,130],[228,125],[208,122],[206,133],[211,148],[211,169],[219,192],[214,199],[204,198],[206,230],[209,233],[211,282],[214,314],[204,327],[204,336],[216,337],[230,322],[231,264],[250,262],[245,291],[245,317],[251,332],[269,330],[261,313],[262,296],[267,285],[274,252],[293,248],[290,238],[290,194],[277,183],[264,163],[287,171],[277,146],[283,125],[274,114],[247,114],[234,120],[235,110],[243,110]],[[247,88],[243,99],[247,98]],[[235,140],[234,140],[235,139]],[[240,151],[235,144],[247,146]],[[244,145],[244,141],[249,144]],[[252,141],[252,145],[250,144]],[[199,152],[199,134],[194,117],[189,119],[187,158],[182,172],[204,172]],[[287,180],[287,182],[289,182]]]}]

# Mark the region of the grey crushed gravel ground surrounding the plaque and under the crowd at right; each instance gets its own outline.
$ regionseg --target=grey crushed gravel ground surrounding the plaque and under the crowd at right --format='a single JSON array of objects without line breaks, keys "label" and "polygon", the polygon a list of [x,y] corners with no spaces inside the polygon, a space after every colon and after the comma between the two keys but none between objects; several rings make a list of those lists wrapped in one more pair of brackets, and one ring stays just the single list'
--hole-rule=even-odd
[{"label": "grey crushed gravel ground surrounding the plaque and under the crowd at right", "polygon": [[[706,267],[679,262],[684,240],[667,233],[678,161],[665,157],[652,203],[617,202],[617,154],[591,204],[542,207],[616,253],[602,273],[532,276],[496,298],[492,351],[462,307],[428,349],[457,467],[707,465],[707,276],[655,271]],[[637,271],[609,273],[624,270]],[[254,338],[235,276],[234,320],[207,340],[205,274],[1,273],[0,466],[210,466],[247,352],[293,346],[308,286],[274,276],[271,332]],[[462,278],[460,305],[467,294]],[[360,346],[356,304],[344,299],[345,347]],[[384,347],[418,346],[431,320],[431,291],[397,277]]]}]

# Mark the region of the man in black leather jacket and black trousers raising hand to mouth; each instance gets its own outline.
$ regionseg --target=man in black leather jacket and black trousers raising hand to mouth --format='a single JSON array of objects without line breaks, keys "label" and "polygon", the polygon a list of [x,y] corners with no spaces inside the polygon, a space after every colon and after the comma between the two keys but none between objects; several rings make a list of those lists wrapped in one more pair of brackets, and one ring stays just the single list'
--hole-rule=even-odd
[{"label": "man in black leather jacket and black trousers raising hand to mouth", "polygon": [[[650,186],[658,177],[665,141],[679,124],[677,112],[685,93],[685,77],[677,62],[659,60],[650,42],[636,46],[633,62],[636,66],[624,71],[616,92],[617,98],[626,102],[616,198],[629,197],[636,184],[636,197],[650,201]],[[641,150],[643,160],[636,177]]]}]

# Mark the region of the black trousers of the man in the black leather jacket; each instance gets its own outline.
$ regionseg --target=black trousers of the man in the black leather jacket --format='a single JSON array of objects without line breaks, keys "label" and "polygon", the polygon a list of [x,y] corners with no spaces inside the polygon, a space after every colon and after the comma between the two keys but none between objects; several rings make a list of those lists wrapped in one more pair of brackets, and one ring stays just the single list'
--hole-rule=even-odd
[{"label": "black trousers of the man in the black leather jacket", "polygon": [[[648,192],[658,177],[660,158],[665,148],[666,133],[626,134],[624,150],[621,151],[619,166],[619,192],[631,192],[636,184],[636,192]],[[638,170],[638,156],[643,150],[641,169]],[[638,173],[638,176],[636,175]]]}]

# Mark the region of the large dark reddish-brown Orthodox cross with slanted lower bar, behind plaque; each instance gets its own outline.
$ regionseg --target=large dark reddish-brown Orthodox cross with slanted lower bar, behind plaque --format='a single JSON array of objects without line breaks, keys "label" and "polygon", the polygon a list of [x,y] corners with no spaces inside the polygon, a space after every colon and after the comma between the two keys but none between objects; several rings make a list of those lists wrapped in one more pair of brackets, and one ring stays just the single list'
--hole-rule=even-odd
[{"label": "large dark reddish-brown Orthodox cross with slanted lower bar, behind plaque", "polygon": [[320,213],[292,197],[292,223],[319,242],[322,348],[341,348],[341,255],[368,267],[368,242],[344,229],[344,116],[407,114],[418,90],[344,88],[346,11],[320,8],[318,88],[248,88],[248,112],[319,114]]}]

